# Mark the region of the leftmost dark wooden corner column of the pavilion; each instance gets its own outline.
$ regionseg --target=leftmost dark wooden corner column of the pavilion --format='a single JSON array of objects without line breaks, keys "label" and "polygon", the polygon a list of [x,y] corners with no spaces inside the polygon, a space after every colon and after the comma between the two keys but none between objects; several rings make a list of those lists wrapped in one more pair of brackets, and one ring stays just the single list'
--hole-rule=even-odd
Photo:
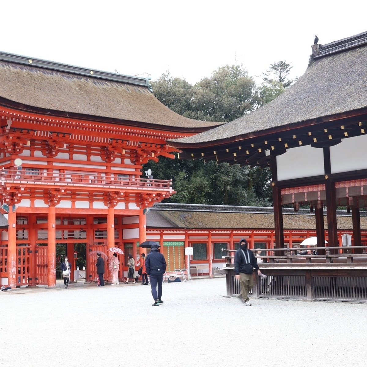
[{"label": "leftmost dark wooden corner column of the pavilion", "polygon": [[271,157],[272,171],[272,189],[273,189],[273,205],[274,205],[274,229],[275,229],[275,248],[284,247],[284,228],[283,228],[283,210],[281,206],[281,190],[276,185],[277,169],[276,156]]}]

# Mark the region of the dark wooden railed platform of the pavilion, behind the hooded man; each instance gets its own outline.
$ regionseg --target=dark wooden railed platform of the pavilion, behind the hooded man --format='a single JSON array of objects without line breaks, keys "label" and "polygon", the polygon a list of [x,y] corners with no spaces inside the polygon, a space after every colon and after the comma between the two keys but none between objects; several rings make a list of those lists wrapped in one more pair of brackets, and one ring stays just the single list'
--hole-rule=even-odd
[{"label": "dark wooden railed platform of the pavilion, behind the hooded man", "polygon": [[[255,286],[251,294],[259,298],[366,302],[367,254],[353,254],[353,248],[366,251],[367,246],[261,249],[269,253],[261,256],[269,262],[258,264],[267,277],[264,279],[254,272]],[[288,255],[291,251],[315,249],[324,250],[326,255]],[[227,253],[236,251],[222,250]],[[330,254],[330,250],[346,253]],[[224,258],[225,267],[215,273],[226,275],[228,296],[239,295],[240,283],[235,278],[232,262],[234,257]]]}]

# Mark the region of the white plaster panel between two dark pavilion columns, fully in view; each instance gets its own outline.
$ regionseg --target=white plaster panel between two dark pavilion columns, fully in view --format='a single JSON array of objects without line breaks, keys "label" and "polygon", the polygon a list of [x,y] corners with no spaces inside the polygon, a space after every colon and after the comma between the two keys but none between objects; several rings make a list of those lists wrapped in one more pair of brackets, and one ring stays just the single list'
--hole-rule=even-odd
[{"label": "white plaster panel between two dark pavilion columns, fully in view", "polygon": [[310,145],[287,149],[276,157],[278,181],[324,175],[324,152]]}]

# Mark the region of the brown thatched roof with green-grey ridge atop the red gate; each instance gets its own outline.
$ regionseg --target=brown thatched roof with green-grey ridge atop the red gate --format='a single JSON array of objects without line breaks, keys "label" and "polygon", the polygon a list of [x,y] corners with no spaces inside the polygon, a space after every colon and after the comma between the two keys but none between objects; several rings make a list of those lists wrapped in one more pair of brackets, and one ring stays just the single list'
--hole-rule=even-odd
[{"label": "brown thatched roof with green-grey ridge atop the red gate", "polygon": [[200,132],[217,122],[180,116],[154,97],[149,80],[0,52],[0,105],[167,131]]}]

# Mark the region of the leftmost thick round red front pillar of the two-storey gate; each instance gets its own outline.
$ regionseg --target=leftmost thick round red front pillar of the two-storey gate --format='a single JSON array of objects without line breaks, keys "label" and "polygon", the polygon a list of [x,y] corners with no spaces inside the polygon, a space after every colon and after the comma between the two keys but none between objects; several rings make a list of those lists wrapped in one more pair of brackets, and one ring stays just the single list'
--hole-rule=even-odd
[{"label": "leftmost thick round red front pillar of the two-storey gate", "polygon": [[12,204],[9,204],[8,213],[8,286],[17,287],[17,214],[13,212]]}]

